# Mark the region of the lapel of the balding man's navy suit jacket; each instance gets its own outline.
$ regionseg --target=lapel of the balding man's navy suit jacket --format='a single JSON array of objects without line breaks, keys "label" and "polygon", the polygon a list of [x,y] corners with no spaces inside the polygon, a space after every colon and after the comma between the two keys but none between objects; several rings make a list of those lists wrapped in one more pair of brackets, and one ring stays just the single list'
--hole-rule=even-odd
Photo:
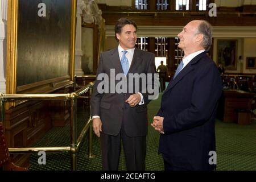
[{"label": "lapel of the balding man's navy suit jacket", "polygon": [[170,84],[167,86],[166,90],[163,94],[165,94],[168,90],[174,87],[185,75],[187,75],[189,72],[192,72],[195,69],[195,66],[193,64],[196,64],[201,57],[205,55],[205,52],[200,53],[196,57],[194,57],[186,66],[181,70],[181,72],[175,77],[175,79],[172,79],[170,81]]}]

